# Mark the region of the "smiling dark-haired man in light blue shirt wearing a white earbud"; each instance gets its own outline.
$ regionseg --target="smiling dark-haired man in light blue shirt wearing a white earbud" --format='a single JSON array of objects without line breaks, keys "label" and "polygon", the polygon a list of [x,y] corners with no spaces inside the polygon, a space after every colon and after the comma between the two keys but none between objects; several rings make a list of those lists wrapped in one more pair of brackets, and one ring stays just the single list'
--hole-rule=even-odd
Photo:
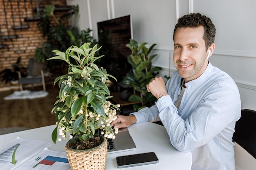
[{"label": "smiling dark-haired man in light blue shirt wearing a white earbud", "polygon": [[208,61],[215,33],[211,20],[199,13],[180,18],[173,34],[177,71],[166,85],[162,77],[147,85],[156,104],[111,123],[121,128],[160,119],[172,145],[192,152],[192,170],[235,170],[232,137],[240,95],[233,79]]}]

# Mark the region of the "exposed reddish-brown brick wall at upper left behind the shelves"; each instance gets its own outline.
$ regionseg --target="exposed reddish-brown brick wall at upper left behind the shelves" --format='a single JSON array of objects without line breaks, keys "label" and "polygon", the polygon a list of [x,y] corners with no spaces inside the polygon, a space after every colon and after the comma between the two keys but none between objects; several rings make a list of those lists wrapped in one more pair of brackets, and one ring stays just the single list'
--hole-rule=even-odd
[{"label": "exposed reddish-brown brick wall at upper left behind the shelves", "polygon": [[[66,0],[38,0],[40,7],[47,4],[65,6]],[[4,5],[5,4],[5,5]],[[19,7],[19,8],[18,8]],[[0,44],[0,71],[12,68],[12,64],[21,56],[21,63],[27,67],[29,58],[34,58],[37,47],[42,46],[45,39],[38,30],[38,21],[25,22],[24,18],[36,15],[36,0],[0,0],[0,33],[2,38]],[[5,15],[6,13],[6,15]],[[54,13],[59,18],[63,12]],[[21,23],[21,24],[20,24]],[[68,21],[66,21],[68,24]],[[28,29],[12,29],[12,26],[29,25]],[[3,39],[3,36],[17,35],[17,38]],[[9,84],[0,82],[0,88]]]}]

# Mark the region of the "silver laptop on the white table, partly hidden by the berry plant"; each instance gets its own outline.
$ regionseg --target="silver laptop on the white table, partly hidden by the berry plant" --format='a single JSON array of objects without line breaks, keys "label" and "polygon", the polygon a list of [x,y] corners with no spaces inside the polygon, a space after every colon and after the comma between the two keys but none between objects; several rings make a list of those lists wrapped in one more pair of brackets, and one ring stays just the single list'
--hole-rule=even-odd
[{"label": "silver laptop on the white table, partly hidden by the berry plant", "polygon": [[120,128],[115,136],[115,139],[107,139],[108,154],[136,149],[136,145],[130,136],[128,128]]}]

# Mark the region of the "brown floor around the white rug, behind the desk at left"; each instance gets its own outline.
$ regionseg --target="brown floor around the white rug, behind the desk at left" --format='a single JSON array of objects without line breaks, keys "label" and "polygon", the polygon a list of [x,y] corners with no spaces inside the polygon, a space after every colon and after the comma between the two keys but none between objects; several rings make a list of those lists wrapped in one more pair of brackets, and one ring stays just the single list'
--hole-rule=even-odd
[{"label": "brown floor around the white rug, behind the desk at left", "polygon": [[[42,86],[26,88],[24,90],[41,91]],[[58,86],[46,86],[49,93],[46,97],[36,99],[4,100],[4,97],[13,91],[0,92],[0,128],[25,127],[38,128],[53,125],[56,122],[55,115],[51,111],[58,95]]]}]

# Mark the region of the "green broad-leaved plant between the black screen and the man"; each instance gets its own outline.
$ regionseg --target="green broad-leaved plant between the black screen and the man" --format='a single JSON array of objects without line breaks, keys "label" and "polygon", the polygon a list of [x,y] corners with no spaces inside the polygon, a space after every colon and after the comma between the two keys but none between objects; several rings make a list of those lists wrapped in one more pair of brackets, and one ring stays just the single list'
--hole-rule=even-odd
[{"label": "green broad-leaved plant between the black screen and the man", "polygon": [[142,42],[139,45],[137,41],[132,39],[130,39],[129,44],[126,44],[131,50],[131,54],[128,56],[127,60],[132,68],[130,72],[127,73],[126,77],[124,77],[123,82],[129,84],[134,89],[133,95],[131,95],[128,100],[142,103],[142,106],[137,104],[133,105],[135,111],[152,105],[152,101],[156,100],[151,93],[148,93],[146,85],[157,75],[157,71],[162,70],[161,67],[152,67],[151,61],[157,54],[149,56],[156,44],[151,45],[149,48],[146,47],[146,44],[148,43]]}]

